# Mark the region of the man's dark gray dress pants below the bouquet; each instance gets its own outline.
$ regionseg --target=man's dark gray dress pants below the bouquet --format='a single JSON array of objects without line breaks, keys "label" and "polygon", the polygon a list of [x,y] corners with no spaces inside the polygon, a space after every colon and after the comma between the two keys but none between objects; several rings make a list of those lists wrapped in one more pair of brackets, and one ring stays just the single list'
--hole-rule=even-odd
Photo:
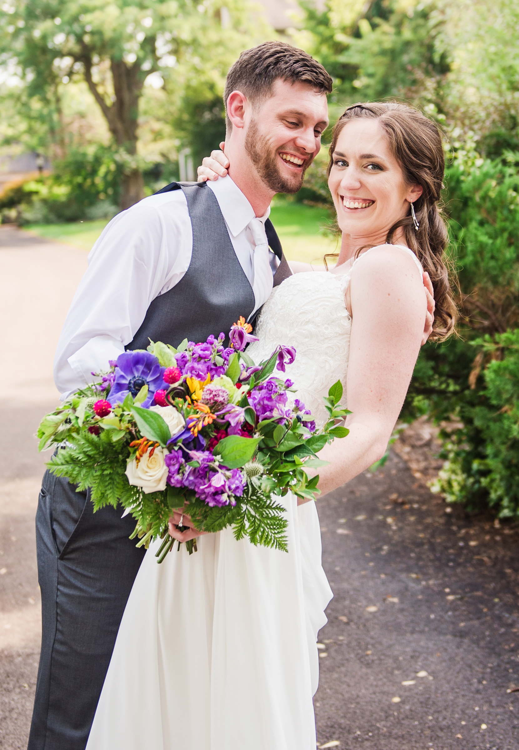
[{"label": "man's dark gray dress pants below the bouquet", "polygon": [[84,750],[133,580],[145,554],[133,517],[94,513],[89,492],[50,472],[36,514],[40,666],[28,750]]}]

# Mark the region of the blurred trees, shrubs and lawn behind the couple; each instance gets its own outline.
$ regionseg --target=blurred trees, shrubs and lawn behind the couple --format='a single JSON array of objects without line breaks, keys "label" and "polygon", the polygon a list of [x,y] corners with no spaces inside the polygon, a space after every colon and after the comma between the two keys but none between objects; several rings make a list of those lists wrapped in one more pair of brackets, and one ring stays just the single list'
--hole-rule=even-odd
[{"label": "blurred trees, shrubs and lawn behind the couple", "polygon": [[[223,137],[226,70],[273,38],[325,65],[332,121],[389,99],[442,129],[460,324],[422,350],[402,418],[441,425],[449,502],[519,517],[517,0],[6,0],[1,221],[89,250],[117,211],[193,178]],[[325,170],[323,148],[273,204],[290,258],[337,247]]]}]

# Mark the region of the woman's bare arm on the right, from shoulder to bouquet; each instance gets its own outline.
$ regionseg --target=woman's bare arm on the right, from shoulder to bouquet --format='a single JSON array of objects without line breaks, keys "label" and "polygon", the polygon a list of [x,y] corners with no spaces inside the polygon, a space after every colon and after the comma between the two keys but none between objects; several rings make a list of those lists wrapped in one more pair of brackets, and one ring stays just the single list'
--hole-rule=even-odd
[{"label": "woman's bare arm on the right, from shoulder to bouquet", "polygon": [[[406,397],[424,329],[426,299],[413,259],[386,245],[356,264],[347,374],[350,434],[325,446],[319,488],[326,494],[379,460]],[[384,325],[380,325],[384,321]]]}]

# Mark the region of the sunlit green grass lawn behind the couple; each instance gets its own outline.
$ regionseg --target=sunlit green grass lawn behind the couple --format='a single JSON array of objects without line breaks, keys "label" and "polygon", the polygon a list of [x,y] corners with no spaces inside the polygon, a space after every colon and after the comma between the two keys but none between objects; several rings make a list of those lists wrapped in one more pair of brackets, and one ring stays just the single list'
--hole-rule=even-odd
[{"label": "sunlit green grass lawn behind the couple", "polygon": [[[306,263],[322,263],[326,253],[333,253],[337,241],[323,234],[322,227],[330,222],[326,208],[289,202],[283,198],[275,200],[271,210],[272,223],[276,227],[289,260]],[[29,224],[25,227],[40,237],[66,242],[89,251],[107,225],[107,221],[77,221],[63,224]]]}]

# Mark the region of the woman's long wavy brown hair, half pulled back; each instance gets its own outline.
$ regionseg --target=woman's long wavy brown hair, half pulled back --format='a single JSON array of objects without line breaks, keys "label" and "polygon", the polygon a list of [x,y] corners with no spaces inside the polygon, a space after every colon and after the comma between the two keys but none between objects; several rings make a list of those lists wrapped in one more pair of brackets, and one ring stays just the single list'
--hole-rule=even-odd
[{"label": "woman's long wavy brown hair, half pulled back", "polygon": [[407,104],[353,104],[333,128],[328,176],[333,166],[333,153],[338,137],[344,126],[357,118],[374,118],[380,121],[392,154],[404,172],[405,181],[407,184],[419,184],[423,188],[422,195],[413,203],[419,229],[415,229],[410,212],[393,224],[386,242],[392,245],[396,230],[404,227],[407,247],[416,254],[424,271],[431,277],[436,302],[431,338],[441,341],[454,331],[456,306],[451,296],[449,272],[444,260],[449,233],[440,204],[445,172],[440,131],[433,121]]}]

